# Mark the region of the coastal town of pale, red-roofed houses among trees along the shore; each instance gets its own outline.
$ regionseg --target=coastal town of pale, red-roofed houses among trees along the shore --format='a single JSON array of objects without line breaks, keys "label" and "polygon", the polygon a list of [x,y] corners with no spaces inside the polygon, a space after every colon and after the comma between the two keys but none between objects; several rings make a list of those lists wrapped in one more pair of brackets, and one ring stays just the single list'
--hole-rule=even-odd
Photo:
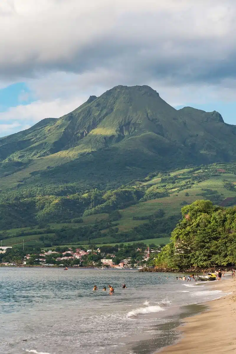
[{"label": "coastal town of pale, red-roofed houses among trees along the shore", "polygon": [[39,267],[99,267],[99,268],[142,268],[152,266],[161,247],[143,243],[133,245],[85,247],[55,247],[50,250],[19,250],[0,246],[1,266]]}]

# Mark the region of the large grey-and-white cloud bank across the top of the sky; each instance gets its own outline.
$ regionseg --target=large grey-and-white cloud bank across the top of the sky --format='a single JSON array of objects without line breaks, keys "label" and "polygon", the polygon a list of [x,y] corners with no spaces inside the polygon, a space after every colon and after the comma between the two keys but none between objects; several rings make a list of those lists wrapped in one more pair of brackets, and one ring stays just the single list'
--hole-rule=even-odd
[{"label": "large grey-and-white cloud bank across the top of the sky", "polygon": [[131,82],[220,81],[236,75],[235,10],[234,0],[5,1],[0,76],[106,68]]}]

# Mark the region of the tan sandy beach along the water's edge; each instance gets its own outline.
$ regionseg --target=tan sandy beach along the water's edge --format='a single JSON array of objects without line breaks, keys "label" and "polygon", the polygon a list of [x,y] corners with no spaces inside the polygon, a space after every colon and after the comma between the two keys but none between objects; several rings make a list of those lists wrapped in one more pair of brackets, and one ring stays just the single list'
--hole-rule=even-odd
[{"label": "tan sandy beach along the water's edge", "polygon": [[209,286],[231,294],[205,303],[205,312],[183,319],[178,327],[182,338],[162,349],[162,354],[236,353],[236,279],[214,281]]}]

